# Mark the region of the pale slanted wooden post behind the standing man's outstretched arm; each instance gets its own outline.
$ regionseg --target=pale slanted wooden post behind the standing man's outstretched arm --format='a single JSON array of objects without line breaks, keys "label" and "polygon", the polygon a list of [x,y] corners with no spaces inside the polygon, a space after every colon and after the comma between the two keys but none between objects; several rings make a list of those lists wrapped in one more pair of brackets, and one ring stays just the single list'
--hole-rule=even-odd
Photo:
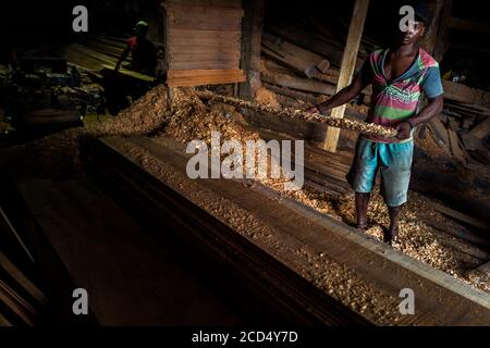
[{"label": "pale slanted wooden post behind the standing man's outstretched arm", "polygon": [[[359,50],[360,38],[363,37],[364,23],[366,22],[367,9],[369,0],[356,0],[354,11],[348,28],[347,42],[345,44],[344,54],[342,55],[342,65],[340,70],[339,83],[336,91],[347,87],[352,82],[352,75],[356,66],[357,52]],[[345,104],[332,110],[332,116],[343,117],[345,113]],[[328,127],[323,141],[323,149],[335,152],[339,141],[340,129]]]}]

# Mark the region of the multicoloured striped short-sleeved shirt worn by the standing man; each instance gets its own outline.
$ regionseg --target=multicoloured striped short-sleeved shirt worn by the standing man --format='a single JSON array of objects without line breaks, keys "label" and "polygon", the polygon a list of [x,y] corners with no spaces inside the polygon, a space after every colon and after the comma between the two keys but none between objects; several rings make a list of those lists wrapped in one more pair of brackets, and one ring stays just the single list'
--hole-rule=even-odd
[{"label": "multicoloured striped short-sleeved shirt worn by the standing man", "polygon": [[[443,89],[439,64],[424,49],[419,49],[411,67],[392,80],[385,78],[383,69],[388,53],[388,49],[372,52],[359,74],[365,84],[372,84],[371,107],[366,122],[396,127],[417,114],[421,92],[431,99],[442,95]],[[396,138],[365,137],[380,142],[401,141]]]}]

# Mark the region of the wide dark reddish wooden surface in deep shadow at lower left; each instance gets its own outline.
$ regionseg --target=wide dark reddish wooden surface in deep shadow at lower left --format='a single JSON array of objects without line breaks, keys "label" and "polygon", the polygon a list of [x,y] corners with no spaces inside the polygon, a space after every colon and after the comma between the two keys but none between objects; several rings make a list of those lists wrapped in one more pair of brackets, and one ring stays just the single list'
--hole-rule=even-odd
[{"label": "wide dark reddish wooden surface in deep shadow at lower left", "polygon": [[[24,179],[19,188],[53,259],[62,265],[44,270],[51,274],[49,285],[57,287],[52,293],[70,298],[74,288],[85,288],[96,323],[243,323],[179,258],[88,181]],[[164,233],[166,226],[161,228],[159,233]],[[49,253],[39,247],[33,246],[39,259],[46,259]],[[63,315],[70,310],[65,308]]]}]

